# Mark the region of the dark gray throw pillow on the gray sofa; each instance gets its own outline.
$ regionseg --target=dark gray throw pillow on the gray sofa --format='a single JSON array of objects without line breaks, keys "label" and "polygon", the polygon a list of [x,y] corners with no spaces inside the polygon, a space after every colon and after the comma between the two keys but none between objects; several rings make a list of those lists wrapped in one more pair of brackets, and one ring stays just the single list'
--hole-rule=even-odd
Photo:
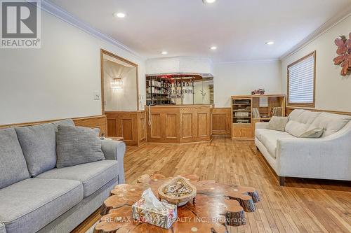
[{"label": "dark gray throw pillow on the gray sofa", "polygon": [[101,141],[91,128],[59,125],[56,134],[57,168],[105,160]]}]

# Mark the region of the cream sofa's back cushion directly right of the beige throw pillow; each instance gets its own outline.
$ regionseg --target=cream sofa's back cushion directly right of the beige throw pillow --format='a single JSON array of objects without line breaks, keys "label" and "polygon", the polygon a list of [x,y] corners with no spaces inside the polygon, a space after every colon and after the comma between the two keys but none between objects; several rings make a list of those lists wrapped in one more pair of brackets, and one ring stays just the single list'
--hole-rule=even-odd
[{"label": "cream sofa's back cushion directly right of the beige throw pillow", "polygon": [[285,126],[285,131],[293,136],[300,136],[307,131],[319,114],[321,113],[295,109],[289,115],[289,122]]}]

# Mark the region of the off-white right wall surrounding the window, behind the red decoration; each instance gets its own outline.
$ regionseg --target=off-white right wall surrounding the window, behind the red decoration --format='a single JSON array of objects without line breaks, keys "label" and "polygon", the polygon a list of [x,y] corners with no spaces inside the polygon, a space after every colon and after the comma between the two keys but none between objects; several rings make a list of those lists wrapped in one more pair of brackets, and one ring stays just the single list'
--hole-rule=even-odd
[{"label": "off-white right wall surrounding the window, behind the red decoration", "polygon": [[351,111],[351,78],[340,76],[341,68],[333,64],[336,57],[334,40],[351,31],[351,15],[321,36],[282,60],[282,91],[286,93],[287,66],[301,57],[317,51],[316,57],[316,106],[321,110]]}]

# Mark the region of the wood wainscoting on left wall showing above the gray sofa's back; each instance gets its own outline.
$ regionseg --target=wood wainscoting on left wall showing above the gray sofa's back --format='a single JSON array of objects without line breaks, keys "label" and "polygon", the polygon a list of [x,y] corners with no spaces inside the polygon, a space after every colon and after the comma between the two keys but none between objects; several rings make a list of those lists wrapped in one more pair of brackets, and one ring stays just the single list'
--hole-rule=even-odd
[{"label": "wood wainscoting on left wall showing above the gray sofa's back", "polygon": [[[17,123],[11,125],[0,125],[0,129],[8,128],[8,127],[23,127],[23,126],[31,126],[31,125],[40,125],[50,122],[55,122],[58,120],[64,119],[56,119],[56,120],[41,120],[36,122],[25,122],[25,123]],[[106,134],[106,115],[93,115],[84,118],[72,118],[74,124],[76,126],[89,127],[89,128],[99,128],[100,134]]]}]

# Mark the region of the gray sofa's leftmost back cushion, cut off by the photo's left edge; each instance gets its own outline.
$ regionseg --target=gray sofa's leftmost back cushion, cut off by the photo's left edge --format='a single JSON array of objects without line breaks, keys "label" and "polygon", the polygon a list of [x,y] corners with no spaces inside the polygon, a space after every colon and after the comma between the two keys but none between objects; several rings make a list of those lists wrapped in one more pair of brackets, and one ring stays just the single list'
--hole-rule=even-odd
[{"label": "gray sofa's leftmost back cushion, cut off by the photo's left edge", "polygon": [[26,178],[29,178],[29,171],[15,129],[1,129],[0,189]]}]

